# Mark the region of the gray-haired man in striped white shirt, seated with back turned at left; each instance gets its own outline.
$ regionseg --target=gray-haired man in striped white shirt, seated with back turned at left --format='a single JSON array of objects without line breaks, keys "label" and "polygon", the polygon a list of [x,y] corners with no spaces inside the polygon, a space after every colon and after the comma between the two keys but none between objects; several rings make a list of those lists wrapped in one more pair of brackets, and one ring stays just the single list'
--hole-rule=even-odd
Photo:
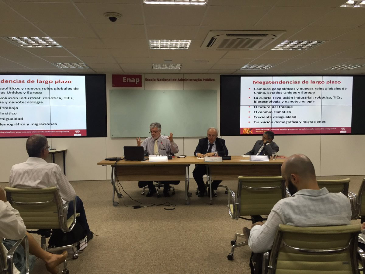
[{"label": "gray-haired man in striped white shirt, seated with back turned at left", "polygon": [[[77,222],[81,225],[87,240],[91,240],[93,233],[90,231],[84,204],[67,180],[57,164],[47,163],[49,154],[48,141],[43,135],[32,135],[27,139],[26,149],[29,158],[26,162],[15,164],[10,170],[9,186],[20,189],[41,189],[44,187],[57,187],[59,195],[64,201],[76,201],[76,213],[80,213]],[[69,203],[67,217],[73,215],[73,202]],[[69,232],[71,233],[71,232]],[[81,239],[79,239],[81,240]]]}]

